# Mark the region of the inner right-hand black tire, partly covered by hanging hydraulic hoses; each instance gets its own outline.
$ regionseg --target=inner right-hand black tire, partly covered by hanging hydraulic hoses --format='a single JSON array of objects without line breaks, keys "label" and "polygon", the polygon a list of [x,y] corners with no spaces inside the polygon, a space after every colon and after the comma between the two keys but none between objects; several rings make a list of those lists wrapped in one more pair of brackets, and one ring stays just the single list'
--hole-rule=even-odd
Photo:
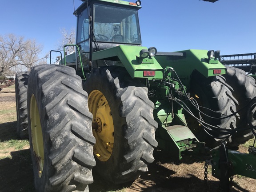
[{"label": "inner right-hand black tire, partly covered by hanging hydraulic hoses", "polygon": [[[199,105],[212,110],[200,108],[208,116],[220,118],[236,112],[236,104],[238,102],[232,96],[232,91],[232,88],[225,83],[223,77],[212,76],[205,78],[199,72],[194,72],[192,76],[192,90],[190,92],[192,92],[192,97],[197,100]],[[202,117],[206,123],[225,130],[236,128],[236,116],[225,119],[213,119],[204,115]],[[225,136],[220,129],[214,132],[208,131],[212,135],[209,136],[196,121],[189,122],[188,126],[195,133],[197,139],[205,142],[210,148],[220,145],[223,141],[231,142],[231,136],[220,138]]]}]

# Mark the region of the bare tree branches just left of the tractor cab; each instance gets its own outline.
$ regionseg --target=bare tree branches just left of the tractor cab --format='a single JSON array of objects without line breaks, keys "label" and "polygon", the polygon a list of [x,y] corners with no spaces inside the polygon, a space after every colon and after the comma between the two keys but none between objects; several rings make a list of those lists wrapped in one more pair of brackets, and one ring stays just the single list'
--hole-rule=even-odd
[{"label": "bare tree branches just left of the tractor cab", "polygon": [[[61,31],[61,35],[62,35],[62,39],[59,40],[58,43],[58,50],[59,51],[63,51],[63,47],[66,44],[76,44],[76,30],[75,28],[71,28],[70,31],[66,30],[65,28],[60,29]],[[67,54],[75,51],[75,47],[74,46],[68,46],[65,48],[65,51],[67,52]]]}]

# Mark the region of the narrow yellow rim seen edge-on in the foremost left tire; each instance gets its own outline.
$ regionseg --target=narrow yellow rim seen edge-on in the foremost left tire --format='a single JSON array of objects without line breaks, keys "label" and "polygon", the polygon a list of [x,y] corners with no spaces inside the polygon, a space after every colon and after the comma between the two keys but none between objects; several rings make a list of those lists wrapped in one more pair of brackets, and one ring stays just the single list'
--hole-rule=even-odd
[{"label": "narrow yellow rim seen edge-on in the foremost left tire", "polygon": [[30,101],[30,120],[32,146],[34,150],[35,160],[37,163],[38,176],[41,177],[44,169],[44,142],[40,122],[40,115],[38,112],[38,106],[34,95],[32,95]]}]

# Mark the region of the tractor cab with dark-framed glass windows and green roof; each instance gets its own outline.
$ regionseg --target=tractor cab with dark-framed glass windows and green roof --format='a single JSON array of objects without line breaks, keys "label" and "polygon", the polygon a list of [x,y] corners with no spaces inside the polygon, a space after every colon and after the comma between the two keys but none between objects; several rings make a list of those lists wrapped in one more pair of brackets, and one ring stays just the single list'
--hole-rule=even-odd
[{"label": "tractor cab with dark-framed glass windows and green roof", "polygon": [[[97,60],[92,62],[92,53],[118,45],[141,45],[138,10],[136,3],[121,0],[88,0],[74,12],[77,17],[76,71],[90,72],[91,68],[114,65],[115,61]],[[81,75],[80,75],[81,76]]]}]

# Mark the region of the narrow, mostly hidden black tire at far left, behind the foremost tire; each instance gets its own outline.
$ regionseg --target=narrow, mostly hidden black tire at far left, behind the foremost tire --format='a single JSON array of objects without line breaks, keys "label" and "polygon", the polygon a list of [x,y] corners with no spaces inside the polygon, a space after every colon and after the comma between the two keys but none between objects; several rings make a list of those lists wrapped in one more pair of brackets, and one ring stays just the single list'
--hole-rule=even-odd
[{"label": "narrow, mostly hidden black tire at far left, behind the foremost tire", "polygon": [[29,72],[19,72],[15,78],[17,134],[21,139],[28,139],[28,75]]}]

